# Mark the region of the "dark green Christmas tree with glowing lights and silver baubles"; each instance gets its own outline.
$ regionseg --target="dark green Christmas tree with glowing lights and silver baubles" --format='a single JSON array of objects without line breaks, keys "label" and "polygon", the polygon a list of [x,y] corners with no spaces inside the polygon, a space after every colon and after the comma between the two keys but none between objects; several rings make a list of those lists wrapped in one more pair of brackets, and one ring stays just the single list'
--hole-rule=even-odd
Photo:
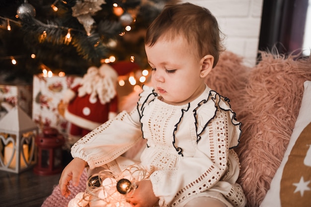
[{"label": "dark green Christmas tree with glowing lights and silver baubles", "polygon": [[42,69],[82,75],[90,66],[148,67],[147,27],[176,0],[1,0],[0,81],[31,82]]}]

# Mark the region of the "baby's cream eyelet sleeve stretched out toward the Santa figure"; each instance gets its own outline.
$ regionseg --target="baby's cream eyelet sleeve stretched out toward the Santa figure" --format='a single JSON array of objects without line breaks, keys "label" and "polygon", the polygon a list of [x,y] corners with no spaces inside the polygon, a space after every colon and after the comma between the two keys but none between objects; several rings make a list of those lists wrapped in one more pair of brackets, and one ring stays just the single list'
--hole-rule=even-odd
[{"label": "baby's cream eyelet sleeve stretched out toward the Santa figure", "polygon": [[124,154],[142,139],[140,114],[149,92],[153,89],[144,87],[137,107],[130,113],[120,112],[115,118],[108,120],[94,129],[72,147],[71,154],[85,160],[90,169],[102,166]]}]

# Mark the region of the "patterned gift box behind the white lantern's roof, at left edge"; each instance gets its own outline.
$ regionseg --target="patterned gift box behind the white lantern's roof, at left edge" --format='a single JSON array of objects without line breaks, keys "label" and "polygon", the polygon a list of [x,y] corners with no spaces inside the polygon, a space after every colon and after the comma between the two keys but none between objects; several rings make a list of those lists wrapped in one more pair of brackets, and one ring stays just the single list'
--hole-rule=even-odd
[{"label": "patterned gift box behind the white lantern's roof, at left edge", "polygon": [[16,104],[31,116],[32,86],[0,84],[0,119]]}]

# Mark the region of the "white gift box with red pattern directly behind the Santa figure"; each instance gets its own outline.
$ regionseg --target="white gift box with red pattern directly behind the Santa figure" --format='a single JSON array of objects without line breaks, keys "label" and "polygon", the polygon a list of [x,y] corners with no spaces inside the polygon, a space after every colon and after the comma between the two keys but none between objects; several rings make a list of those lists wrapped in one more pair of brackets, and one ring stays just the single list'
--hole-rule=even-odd
[{"label": "white gift box with red pattern directly behind the Santa figure", "polygon": [[64,93],[76,86],[81,77],[75,75],[44,77],[33,76],[32,119],[42,132],[44,127],[56,128],[67,136],[69,123],[64,118],[66,105],[63,104]]}]

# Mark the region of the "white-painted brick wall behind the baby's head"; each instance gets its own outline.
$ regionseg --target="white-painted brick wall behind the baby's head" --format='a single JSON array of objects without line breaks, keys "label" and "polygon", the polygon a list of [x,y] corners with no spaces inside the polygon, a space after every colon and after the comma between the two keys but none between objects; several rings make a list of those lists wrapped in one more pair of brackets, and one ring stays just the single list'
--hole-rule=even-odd
[{"label": "white-painted brick wall behind the baby's head", "polygon": [[244,63],[255,65],[263,0],[181,0],[208,8],[226,34],[224,45],[244,57]]}]

